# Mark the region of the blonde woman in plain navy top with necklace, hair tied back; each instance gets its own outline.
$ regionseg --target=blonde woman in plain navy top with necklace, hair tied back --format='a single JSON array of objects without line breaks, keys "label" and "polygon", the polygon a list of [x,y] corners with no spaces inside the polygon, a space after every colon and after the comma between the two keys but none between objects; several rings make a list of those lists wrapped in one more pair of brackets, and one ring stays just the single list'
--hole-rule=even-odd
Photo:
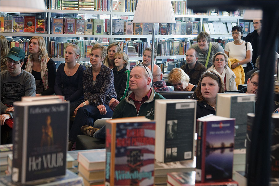
[{"label": "blonde woman in plain navy top with necklace, hair tied back", "polygon": [[[76,44],[68,44],[65,51],[65,63],[57,69],[54,90],[56,95],[64,95],[70,101],[70,116],[84,101],[82,76],[85,67],[80,65],[80,48]],[[71,128],[71,126],[70,126]]]}]

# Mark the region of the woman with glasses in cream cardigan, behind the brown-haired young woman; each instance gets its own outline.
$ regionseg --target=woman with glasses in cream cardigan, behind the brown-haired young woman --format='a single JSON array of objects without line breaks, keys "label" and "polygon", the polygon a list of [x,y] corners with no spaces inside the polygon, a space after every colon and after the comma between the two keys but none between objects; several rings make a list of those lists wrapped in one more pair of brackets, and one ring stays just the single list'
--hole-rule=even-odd
[{"label": "woman with glasses in cream cardigan, behind the brown-haired young woman", "polygon": [[224,78],[224,91],[237,91],[235,75],[228,67],[228,56],[225,53],[217,52],[213,57],[213,65],[209,70],[216,70]]}]

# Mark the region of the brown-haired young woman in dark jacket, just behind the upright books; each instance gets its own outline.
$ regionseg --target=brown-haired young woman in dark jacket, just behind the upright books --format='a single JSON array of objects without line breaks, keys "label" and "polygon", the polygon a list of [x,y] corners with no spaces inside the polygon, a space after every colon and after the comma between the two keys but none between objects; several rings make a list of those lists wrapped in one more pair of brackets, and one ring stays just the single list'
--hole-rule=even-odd
[{"label": "brown-haired young woman in dark jacket, just behind the upright books", "polygon": [[209,70],[202,74],[194,94],[188,99],[197,100],[196,118],[216,114],[217,93],[224,92],[223,77],[215,70]]}]

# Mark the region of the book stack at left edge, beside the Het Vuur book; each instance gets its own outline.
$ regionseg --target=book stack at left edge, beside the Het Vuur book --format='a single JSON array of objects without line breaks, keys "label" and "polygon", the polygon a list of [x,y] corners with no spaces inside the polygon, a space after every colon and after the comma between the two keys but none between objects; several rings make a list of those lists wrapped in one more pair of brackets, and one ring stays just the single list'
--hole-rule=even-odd
[{"label": "book stack at left edge, beside the Het Vuur book", "polygon": [[0,146],[0,175],[5,175],[8,170],[8,155],[13,154],[13,144],[5,144]]}]

